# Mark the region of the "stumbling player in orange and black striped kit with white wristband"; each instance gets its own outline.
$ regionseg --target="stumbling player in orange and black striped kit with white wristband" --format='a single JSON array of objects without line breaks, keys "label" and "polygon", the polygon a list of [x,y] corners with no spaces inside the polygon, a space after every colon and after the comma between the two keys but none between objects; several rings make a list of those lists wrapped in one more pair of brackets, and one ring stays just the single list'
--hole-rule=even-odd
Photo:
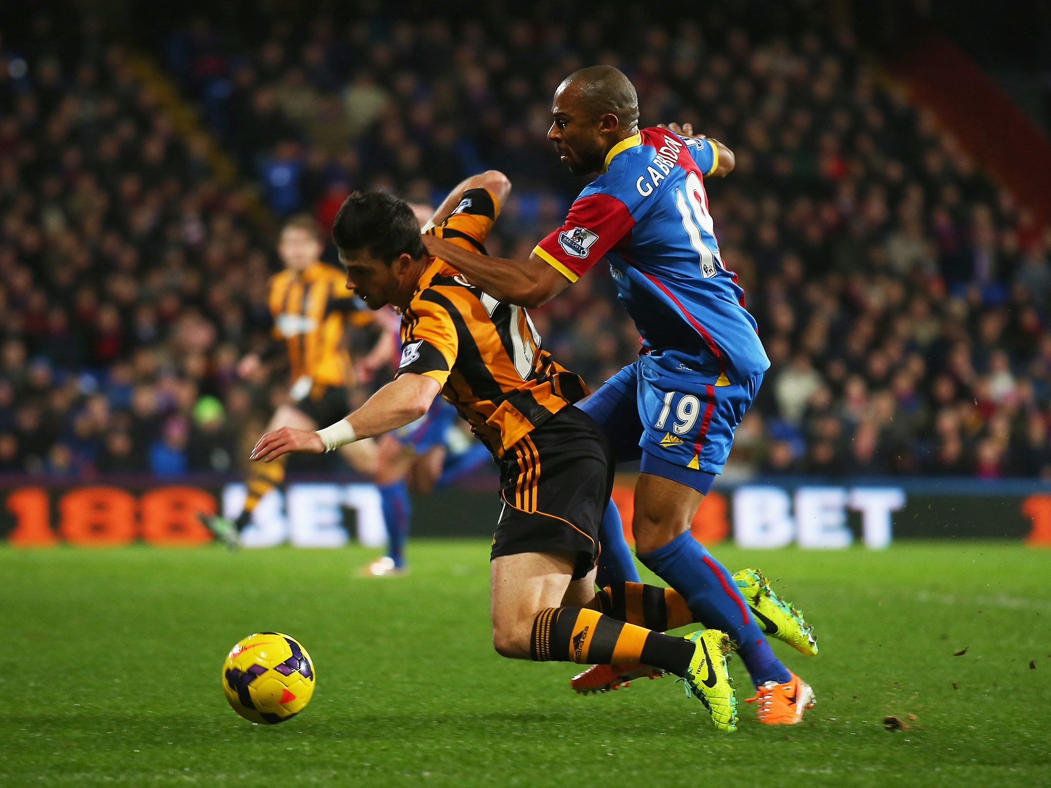
[{"label": "stumbling player in orange and black striped kit with white wristband", "polygon": [[[468,179],[429,231],[483,252],[510,188],[498,172]],[[607,441],[572,407],[586,393],[583,381],[543,349],[524,309],[498,302],[429,255],[400,200],[353,194],[332,232],[347,287],[372,309],[390,304],[403,314],[397,376],[331,427],[267,433],[252,459],[332,451],[396,430],[423,416],[440,392],[500,468],[503,506],[491,556],[496,650],[534,661],[653,665],[683,678],[715,724],[734,730],[724,633],[676,638],[595,609],[602,604],[594,584],[598,531],[613,473]]]}]

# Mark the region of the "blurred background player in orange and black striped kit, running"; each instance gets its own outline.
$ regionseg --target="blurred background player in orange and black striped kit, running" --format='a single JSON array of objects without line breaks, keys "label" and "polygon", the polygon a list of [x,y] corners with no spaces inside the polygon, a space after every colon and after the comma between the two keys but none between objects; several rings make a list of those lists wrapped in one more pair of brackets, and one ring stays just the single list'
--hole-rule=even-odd
[{"label": "blurred background player in orange and black striped kit, running", "polygon": [[[270,419],[268,429],[271,430],[281,427],[312,430],[346,414],[348,388],[354,379],[347,350],[348,324],[366,325],[383,319],[360,308],[359,302],[346,289],[343,273],[322,262],[323,250],[313,219],[300,215],[285,223],[277,245],[285,270],[271,279],[267,303],[273,318],[273,337],[284,340],[288,353],[291,386],[287,400],[277,407]],[[382,331],[364,366],[374,368],[378,364],[376,359],[390,355],[392,350],[390,332]],[[251,378],[279,356],[276,344],[265,357],[249,353],[241,359],[238,373],[242,378]],[[349,444],[341,454],[362,473],[374,475],[378,469],[375,441]],[[260,500],[285,480],[286,464],[287,458],[270,463],[252,462],[241,514],[233,520],[221,515],[201,515],[201,520],[227,545],[236,545],[240,533],[251,522]],[[380,488],[380,494],[392,496],[396,491],[385,492]]]}]

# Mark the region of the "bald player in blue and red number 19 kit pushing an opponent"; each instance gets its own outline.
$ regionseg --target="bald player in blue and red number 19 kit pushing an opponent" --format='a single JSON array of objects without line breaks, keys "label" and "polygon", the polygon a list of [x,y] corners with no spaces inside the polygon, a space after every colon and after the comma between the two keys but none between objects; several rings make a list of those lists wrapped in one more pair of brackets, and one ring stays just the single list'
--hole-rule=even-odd
[{"label": "bald player in blue and red number 19 kit pushing an opponent", "polygon": [[[562,227],[528,260],[483,256],[430,236],[425,244],[494,298],[523,307],[547,303],[607,261],[642,353],[579,407],[606,433],[616,461],[641,455],[633,522],[639,560],[678,593],[686,616],[735,640],[757,688],[759,719],[797,723],[813,692],[777,659],[749,607],[768,614],[760,620],[771,635],[813,654],[809,627],[759,573],[731,576],[689,532],[769,367],[737,275],[720,255],[704,191],[704,179],[729,172],[734,155],[688,126],[640,130],[635,88],[611,66],[568,77],[552,116],[548,139],[562,163],[574,174],[598,173]],[[637,580],[623,535],[615,532],[603,530],[615,547],[603,545],[603,554],[615,556],[615,575]],[[646,595],[652,602],[657,594],[645,588],[613,586],[599,595],[610,608],[603,611],[645,617],[657,609],[666,628],[687,623],[673,615],[679,606],[671,598],[646,604]],[[606,686],[646,672],[617,667]]]}]

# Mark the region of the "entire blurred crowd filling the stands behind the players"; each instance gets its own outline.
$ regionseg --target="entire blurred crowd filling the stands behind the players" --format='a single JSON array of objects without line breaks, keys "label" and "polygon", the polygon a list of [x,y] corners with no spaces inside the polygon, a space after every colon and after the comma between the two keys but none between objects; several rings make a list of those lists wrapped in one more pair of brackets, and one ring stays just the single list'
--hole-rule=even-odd
[{"label": "entire blurred crowd filling the stands behind the players", "polygon": [[[279,217],[329,226],[364,188],[434,204],[493,167],[515,191],[489,249],[509,256],[583,185],[544,140],[555,87],[616,65],[641,125],[691,122],[737,154],[706,187],[772,366],[728,470],[1051,478],[1051,231],[850,33],[721,13],[572,36],[200,17],[163,61]],[[38,33],[0,48],[0,471],[224,470],[273,401],[235,373],[266,341],[272,251],[122,49],[90,25],[62,51]],[[638,351],[598,267],[534,319],[593,387]]]}]

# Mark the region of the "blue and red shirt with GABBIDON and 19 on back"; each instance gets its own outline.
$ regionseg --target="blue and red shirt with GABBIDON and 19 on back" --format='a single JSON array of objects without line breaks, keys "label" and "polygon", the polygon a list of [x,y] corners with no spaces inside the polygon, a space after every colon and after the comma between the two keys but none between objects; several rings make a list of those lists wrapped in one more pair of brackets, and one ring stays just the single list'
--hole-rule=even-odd
[{"label": "blue and red shirt with GABBIDON and 19 on back", "polygon": [[707,140],[645,128],[610,151],[534,253],[571,282],[604,256],[653,360],[740,383],[770,362],[719,254],[703,185],[718,162]]}]

